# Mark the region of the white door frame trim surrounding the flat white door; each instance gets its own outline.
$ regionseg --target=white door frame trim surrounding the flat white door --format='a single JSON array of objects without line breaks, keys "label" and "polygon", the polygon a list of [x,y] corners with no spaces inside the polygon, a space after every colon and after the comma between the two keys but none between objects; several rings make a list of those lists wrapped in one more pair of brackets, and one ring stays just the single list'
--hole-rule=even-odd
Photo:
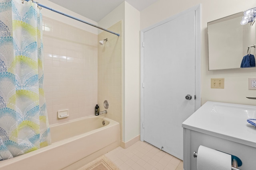
[{"label": "white door frame trim surrounding the flat white door", "polygon": [[[172,21],[180,15],[191,11],[195,12],[195,111],[201,106],[201,4],[198,4],[140,31],[140,141],[144,141],[144,32]],[[186,23],[184,23],[184,26],[186,26]]]}]

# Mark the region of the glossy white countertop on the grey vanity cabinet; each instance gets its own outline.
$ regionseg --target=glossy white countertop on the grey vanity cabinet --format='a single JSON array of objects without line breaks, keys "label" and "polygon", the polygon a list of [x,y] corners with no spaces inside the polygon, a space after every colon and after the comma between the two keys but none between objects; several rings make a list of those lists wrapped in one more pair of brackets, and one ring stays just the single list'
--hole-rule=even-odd
[{"label": "glossy white countertop on the grey vanity cabinet", "polygon": [[206,102],[182,123],[182,127],[256,147],[256,106]]}]

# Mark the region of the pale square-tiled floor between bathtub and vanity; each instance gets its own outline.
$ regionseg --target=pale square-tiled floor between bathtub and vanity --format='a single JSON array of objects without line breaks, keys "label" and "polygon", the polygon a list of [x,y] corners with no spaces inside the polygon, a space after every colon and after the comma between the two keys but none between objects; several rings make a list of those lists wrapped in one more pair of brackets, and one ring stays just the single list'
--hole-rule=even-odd
[{"label": "pale square-tiled floor between bathtub and vanity", "polygon": [[183,161],[147,143],[138,141],[127,149],[105,154],[121,170],[183,170]]}]

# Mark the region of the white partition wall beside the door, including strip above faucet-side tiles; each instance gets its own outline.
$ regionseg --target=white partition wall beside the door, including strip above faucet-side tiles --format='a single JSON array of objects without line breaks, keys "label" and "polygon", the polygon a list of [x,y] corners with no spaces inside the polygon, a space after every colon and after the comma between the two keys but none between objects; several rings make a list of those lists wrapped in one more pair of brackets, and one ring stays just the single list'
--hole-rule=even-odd
[{"label": "white partition wall beside the door, including strip above faucet-side tiles", "polygon": [[98,25],[108,28],[120,20],[123,20],[122,141],[127,142],[140,134],[140,12],[123,2]]}]

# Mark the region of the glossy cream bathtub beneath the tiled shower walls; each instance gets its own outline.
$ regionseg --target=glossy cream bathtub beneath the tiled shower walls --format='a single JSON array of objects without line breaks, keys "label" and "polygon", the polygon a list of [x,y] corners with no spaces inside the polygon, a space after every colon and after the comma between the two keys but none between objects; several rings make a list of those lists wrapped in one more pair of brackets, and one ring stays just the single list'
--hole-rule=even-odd
[{"label": "glossy cream bathtub beneath the tiled shower walls", "polygon": [[0,170],[76,170],[119,146],[119,123],[101,115],[50,130],[52,145],[0,161]]}]

